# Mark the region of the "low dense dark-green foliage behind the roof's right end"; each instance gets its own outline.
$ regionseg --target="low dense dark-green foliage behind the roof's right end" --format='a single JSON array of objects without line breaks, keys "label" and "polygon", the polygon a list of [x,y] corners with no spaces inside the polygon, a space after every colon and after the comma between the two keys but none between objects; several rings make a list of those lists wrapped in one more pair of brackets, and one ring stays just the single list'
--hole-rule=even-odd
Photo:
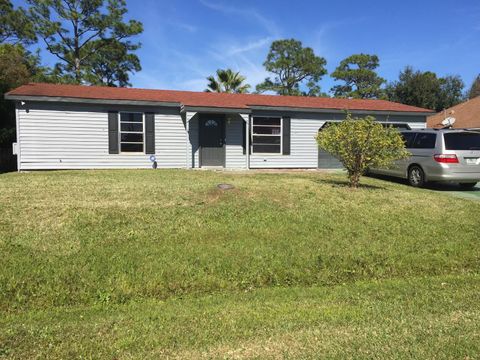
[{"label": "low dense dark-green foliage behind the roof's right end", "polygon": [[431,71],[414,71],[407,66],[399,80],[387,86],[391,101],[441,111],[463,101],[464,84],[459,76],[438,78]]}]

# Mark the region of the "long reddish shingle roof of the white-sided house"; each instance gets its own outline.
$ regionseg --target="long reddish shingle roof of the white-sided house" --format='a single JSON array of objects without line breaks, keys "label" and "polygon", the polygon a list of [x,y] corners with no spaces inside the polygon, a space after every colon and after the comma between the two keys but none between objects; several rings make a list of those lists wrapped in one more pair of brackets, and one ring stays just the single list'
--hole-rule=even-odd
[{"label": "long reddish shingle roof of the white-sided house", "polygon": [[188,107],[250,109],[252,107],[335,109],[431,113],[431,110],[386,100],[333,99],[306,96],[258,94],[225,94],[176,90],[148,90],[104,86],[57,85],[31,83],[6,94],[6,98],[38,97],[75,98],[90,100],[149,101],[178,103]]}]

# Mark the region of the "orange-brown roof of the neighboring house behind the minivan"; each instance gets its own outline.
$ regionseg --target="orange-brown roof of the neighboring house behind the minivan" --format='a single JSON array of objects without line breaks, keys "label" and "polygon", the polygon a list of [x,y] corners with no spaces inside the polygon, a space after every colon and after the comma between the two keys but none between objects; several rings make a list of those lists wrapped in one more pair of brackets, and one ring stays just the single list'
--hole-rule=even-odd
[{"label": "orange-brown roof of the neighboring house behind the minivan", "polygon": [[442,120],[447,117],[455,118],[453,128],[480,129],[480,96],[429,116],[427,126],[429,128],[442,128]]}]

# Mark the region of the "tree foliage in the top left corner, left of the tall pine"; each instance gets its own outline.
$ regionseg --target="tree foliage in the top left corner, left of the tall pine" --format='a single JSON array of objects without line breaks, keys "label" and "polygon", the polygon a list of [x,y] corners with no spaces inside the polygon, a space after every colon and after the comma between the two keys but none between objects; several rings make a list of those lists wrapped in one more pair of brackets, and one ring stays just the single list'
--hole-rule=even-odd
[{"label": "tree foliage in the top left corner, left of the tall pine", "polygon": [[0,0],[0,44],[30,44],[36,40],[33,24],[23,8],[14,9],[10,0]]}]

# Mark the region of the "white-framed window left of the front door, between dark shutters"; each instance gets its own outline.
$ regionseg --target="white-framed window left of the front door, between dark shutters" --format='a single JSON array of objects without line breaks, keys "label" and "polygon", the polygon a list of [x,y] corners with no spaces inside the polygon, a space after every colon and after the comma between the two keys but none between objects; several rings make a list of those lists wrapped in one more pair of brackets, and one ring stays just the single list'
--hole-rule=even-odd
[{"label": "white-framed window left of the front door, between dark shutters", "polygon": [[144,152],[142,113],[120,113],[120,152]]}]

